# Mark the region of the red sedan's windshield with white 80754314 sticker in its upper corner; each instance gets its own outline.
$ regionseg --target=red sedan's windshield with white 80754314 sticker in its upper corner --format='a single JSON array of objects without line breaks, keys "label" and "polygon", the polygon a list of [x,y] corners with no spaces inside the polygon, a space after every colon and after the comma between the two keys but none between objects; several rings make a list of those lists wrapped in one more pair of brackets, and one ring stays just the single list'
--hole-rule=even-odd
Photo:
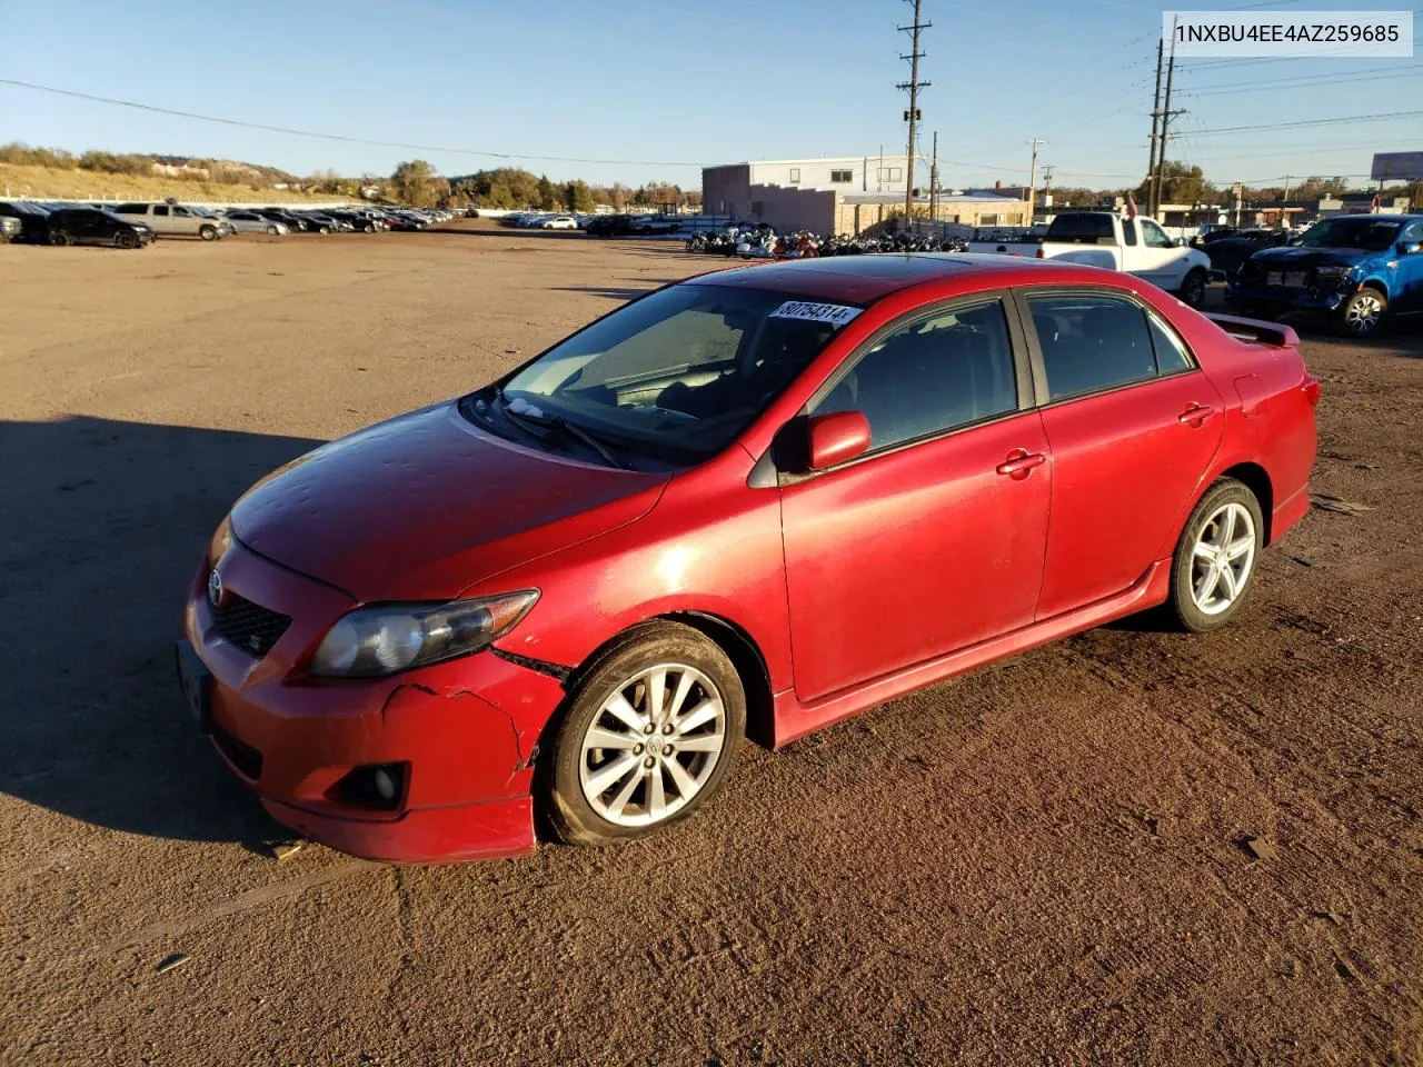
[{"label": "red sedan's windshield with white 80754314 sticker in its upper corner", "polygon": [[859,310],[754,289],[673,286],[544,353],[505,383],[504,396],[515,414],[532,408],[633,451],[706,458]]}]

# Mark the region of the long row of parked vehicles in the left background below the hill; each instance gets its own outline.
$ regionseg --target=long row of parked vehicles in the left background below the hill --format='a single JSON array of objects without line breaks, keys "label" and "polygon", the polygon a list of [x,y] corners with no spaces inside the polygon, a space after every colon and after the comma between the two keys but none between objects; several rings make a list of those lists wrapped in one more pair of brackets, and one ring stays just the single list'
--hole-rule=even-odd
[{"label": "long row of parked vehicles in the left background below the hill", "polygon": [[[455,216],[421,208],[202,208],[174,201],[104,205],[58,201],[0,201],[0,240],[30,245],[144,248],[159,236],[221,240],[233,233],[379,233],[417,230]],[[13,230],[13,233],[10,232]]]}]

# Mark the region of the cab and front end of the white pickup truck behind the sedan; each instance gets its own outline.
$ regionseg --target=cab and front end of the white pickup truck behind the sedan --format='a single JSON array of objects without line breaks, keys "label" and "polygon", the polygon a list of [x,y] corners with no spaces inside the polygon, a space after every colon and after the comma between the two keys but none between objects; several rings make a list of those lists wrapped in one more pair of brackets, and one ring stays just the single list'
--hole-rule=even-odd
[{"label": "cab and front end of the white pickup truck behind the sedan", "polygon": [[1175,293],[1191,307],[1205,299],[1211,270],[1204,252],[1168,238],[1154,219],[1126,219],[1107,211],[1060,212],[1035,255],[1124,270]]}]

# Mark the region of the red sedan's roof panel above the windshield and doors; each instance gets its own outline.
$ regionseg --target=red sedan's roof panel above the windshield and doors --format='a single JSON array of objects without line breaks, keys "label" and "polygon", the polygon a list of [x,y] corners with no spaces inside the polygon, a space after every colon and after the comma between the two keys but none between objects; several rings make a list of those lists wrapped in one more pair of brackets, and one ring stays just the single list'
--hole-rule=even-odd
[{"label": "red sedan's roof panel above the windshield and doors", "polygon": [[932,282],[970,282],[992,276],[995,285],[1100,283],[1100,267],[1050,259],[973,252],[879,252],[864,256],[825,256],[713,270],[687,285],[736,286],[868,304]]}]

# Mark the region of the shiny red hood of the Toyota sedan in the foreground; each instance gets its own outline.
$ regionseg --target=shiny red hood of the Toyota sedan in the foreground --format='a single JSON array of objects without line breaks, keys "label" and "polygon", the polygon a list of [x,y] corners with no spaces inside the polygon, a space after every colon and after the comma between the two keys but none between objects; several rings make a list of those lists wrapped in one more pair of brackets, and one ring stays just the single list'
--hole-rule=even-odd
[{"label": "shiny red hood of the Toyota sedan in the foreground", "polygon": [[667,478],[515,445],[445,401],[273,471],[233,505],[232,529],[360,602],[440,600],[640,518]]}]

